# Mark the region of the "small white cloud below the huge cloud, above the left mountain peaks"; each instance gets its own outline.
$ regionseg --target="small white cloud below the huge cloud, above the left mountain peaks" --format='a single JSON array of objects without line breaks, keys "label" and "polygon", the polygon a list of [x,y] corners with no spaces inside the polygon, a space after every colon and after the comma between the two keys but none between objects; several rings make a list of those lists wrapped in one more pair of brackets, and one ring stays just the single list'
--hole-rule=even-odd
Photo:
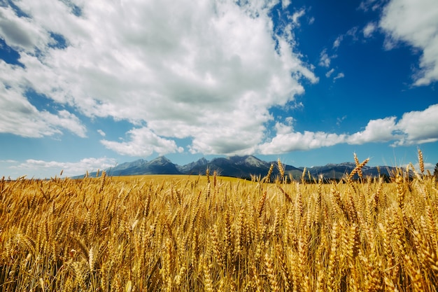
[{"label": "small white cloud below the huge cloud, above the left mountain peaks", "polygon": [[149,156],[152,153],[166,154],[182,152],[183,148],[176,146],[175,141],[164,139],[148,127],[141,127],[128,132],[130,141],[108,141],[101,140],[101,143],[121,155]]}]

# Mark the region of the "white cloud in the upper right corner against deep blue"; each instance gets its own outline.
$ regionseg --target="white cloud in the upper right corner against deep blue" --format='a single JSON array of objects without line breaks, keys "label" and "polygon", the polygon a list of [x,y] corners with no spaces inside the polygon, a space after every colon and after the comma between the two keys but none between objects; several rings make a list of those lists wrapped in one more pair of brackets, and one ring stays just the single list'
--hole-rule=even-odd
[{"label": "white cloud in the upper right corner against deep blue", "polygon": [[386,32],[387,49],[405,41],[423,51],[414,85],[438,80],[438,5],[435,0],[392,0],[383,8],[379,27]]}]

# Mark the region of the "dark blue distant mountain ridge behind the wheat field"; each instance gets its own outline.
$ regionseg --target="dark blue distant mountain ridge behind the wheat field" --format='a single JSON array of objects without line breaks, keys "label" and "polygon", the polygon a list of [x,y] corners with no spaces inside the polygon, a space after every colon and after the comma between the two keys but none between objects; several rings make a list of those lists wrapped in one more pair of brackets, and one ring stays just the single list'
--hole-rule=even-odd
[{"label": "dark blue distant mountain ridge behind the wheat field", "polygon": [[[206,174],[206,169],[210,173],[217,172],[221,176],[233,176],[242,179],[250,179],[251,176],[266,176],[269,172],[269,167],[274,164],[272,177],[279,174],[277,162],[267,162],[260,160],[253,155],[231,156],[227,158],[213,158],[206,160],[201,158],[195,162],[190,162],[187,165],[176,165],[171,160],[164,156],[155,158],[154,160],[134,160],[132,162],[125,162],[115,167],[104,169],[109,176],[131,176],[144,174]],[[293,176],[295,179],[302,176],[304,167],[294,167],[292,165],[283,165],[285,174]],[[350,173],[355,168],[353,162],[343,162],[339,164],[327,164],[324,166],[306,168],[306,173],[309,172],[311,176],[318,178],[323,176],[324,179],[341,179],[344,174]],[[362,168],[364,176],[390,176],[393,172],[393,167],[369,167],[365,165]],[[97,172],[92,172],[90,176],[96,176]],[[74,176],[79,179],[83,176]],[[306,178],[308,174],[306,174]]]}]

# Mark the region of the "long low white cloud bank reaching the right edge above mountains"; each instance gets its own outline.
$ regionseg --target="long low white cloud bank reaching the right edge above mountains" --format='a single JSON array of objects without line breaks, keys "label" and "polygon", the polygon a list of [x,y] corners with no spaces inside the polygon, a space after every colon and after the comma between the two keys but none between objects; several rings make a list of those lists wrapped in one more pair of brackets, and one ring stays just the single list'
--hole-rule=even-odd
[{"label": "long low white cloud bank reaching the right edge above mountains", "polygon": [[394,141],[391,146],[410,146],[438,141],[438,104],[424,111],[404,113],[398,122],[395,116],[369,120],[364,130],[353,134],[295,132],[291,125],[282,123],[276,123],[275,129],[275,137],[260,144],[260,153],[281,154],[336,144],[360,145],[390,141]]}]

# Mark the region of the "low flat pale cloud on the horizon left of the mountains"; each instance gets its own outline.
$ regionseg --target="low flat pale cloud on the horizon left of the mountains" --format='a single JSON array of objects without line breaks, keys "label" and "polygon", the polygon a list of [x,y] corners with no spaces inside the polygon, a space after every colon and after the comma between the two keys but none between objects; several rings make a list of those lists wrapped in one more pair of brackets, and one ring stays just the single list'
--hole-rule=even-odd
[{"label": "low flat pale cloud on the horizon left of the mountains", "polygon": [[[62,172],[62,176],[74,176],[85,174],[85,172],[94,172],[97,169],[106,169],[114,167],[116,161],[113,158],[84,158],[78,162],[58,162],[29,159],[25,162],[17,164],[11,169],[20,170],[22,173],[31,172],[37,174],[38,177],[43,178],[45,174],[55,176]],[[40,174],[40,175],[38,175]],[[41,176],[41,174],[43,174]]]}]

